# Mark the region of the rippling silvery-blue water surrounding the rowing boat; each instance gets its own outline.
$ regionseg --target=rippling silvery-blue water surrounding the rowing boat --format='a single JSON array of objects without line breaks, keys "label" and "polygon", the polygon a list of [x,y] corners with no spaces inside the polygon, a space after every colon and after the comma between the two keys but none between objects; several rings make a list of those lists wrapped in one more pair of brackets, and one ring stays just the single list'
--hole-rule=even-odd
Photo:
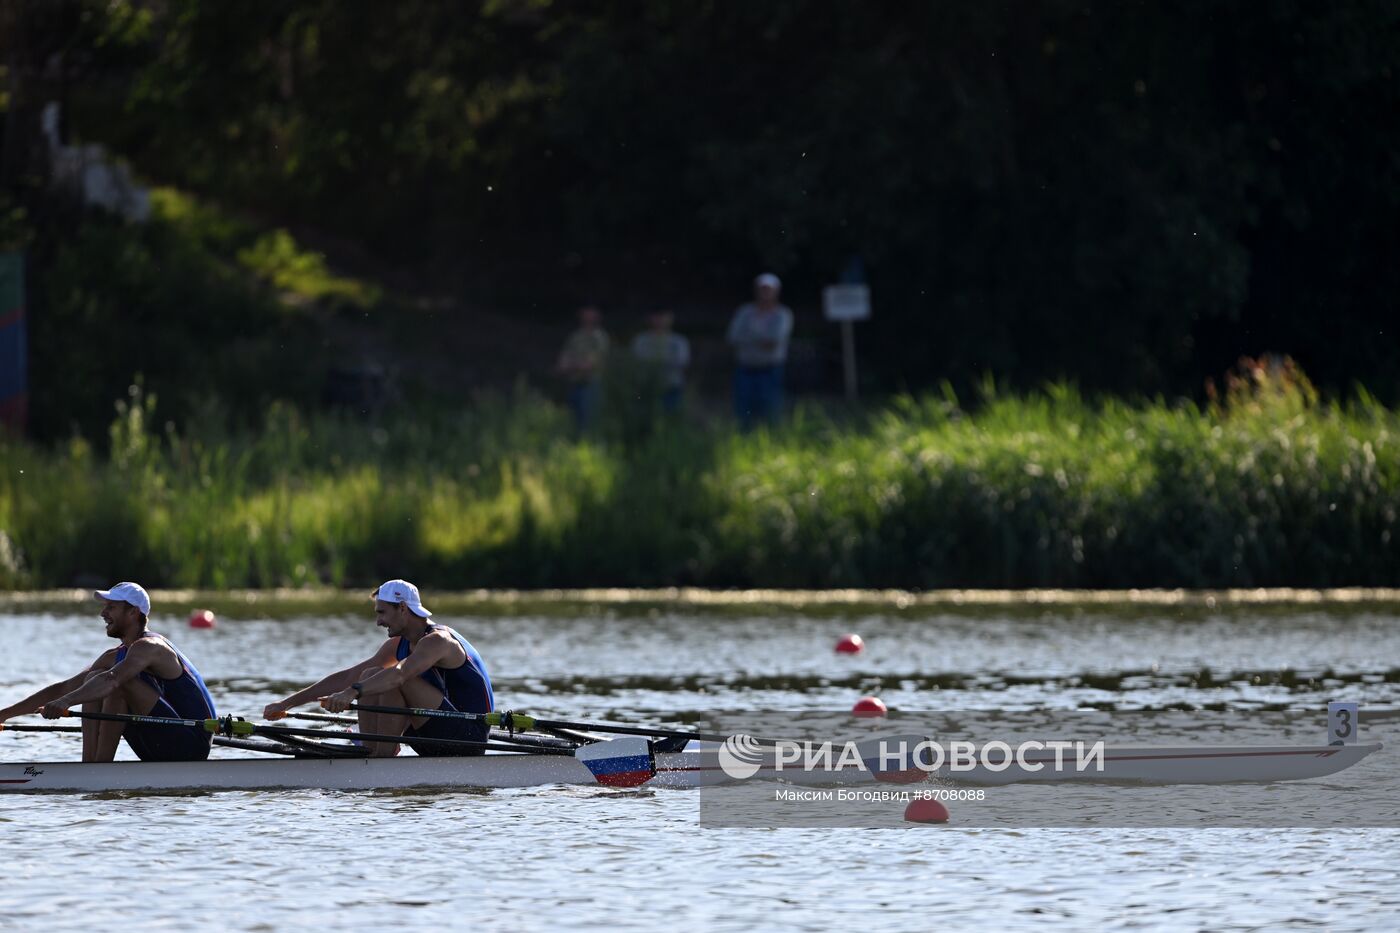
[{"label": "rippling silvery-blue water surrounding the rowing boat", "polygon": [[[906,709],[1296,706],[1320,737],[1329,699],[1400,709],[1383,607],[440,616],[482,650],[503,706],[568,719],[686,724],[878,693]],[[368,602],[259,602],[207,632],[157,605],[153,629],[220,712],[249,719],[379,642]],[[837,657],[848,630],[867,651]],[[0,604],[0,705],[106,647],[95,605]],[[0,734],[4,761],[77,748]],[[1366,793],[1390,755],[1324,780]],[[1400,911],[1400,829],[969,829],[951,810],[945,827],[708,829],[694,792],[666,790],[0,794],[0,929],[1373,929]]]}]

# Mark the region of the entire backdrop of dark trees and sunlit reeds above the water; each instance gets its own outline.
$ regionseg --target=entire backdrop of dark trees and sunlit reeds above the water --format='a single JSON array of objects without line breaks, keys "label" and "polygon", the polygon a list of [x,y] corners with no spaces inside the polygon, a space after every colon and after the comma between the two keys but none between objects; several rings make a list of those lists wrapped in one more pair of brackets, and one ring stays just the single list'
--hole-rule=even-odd
[{"label": "entire backdrop of dark trees and sunlit reeds above the water", "polygon": [[[1397,581],[1387,0],[8,0],[0,52],[0,586]],[[55,192],[49,101],[147,221]],[[830,342],[851,256],[867,409],[616,367],[575,443],[521,378],[759,269]]]}]

